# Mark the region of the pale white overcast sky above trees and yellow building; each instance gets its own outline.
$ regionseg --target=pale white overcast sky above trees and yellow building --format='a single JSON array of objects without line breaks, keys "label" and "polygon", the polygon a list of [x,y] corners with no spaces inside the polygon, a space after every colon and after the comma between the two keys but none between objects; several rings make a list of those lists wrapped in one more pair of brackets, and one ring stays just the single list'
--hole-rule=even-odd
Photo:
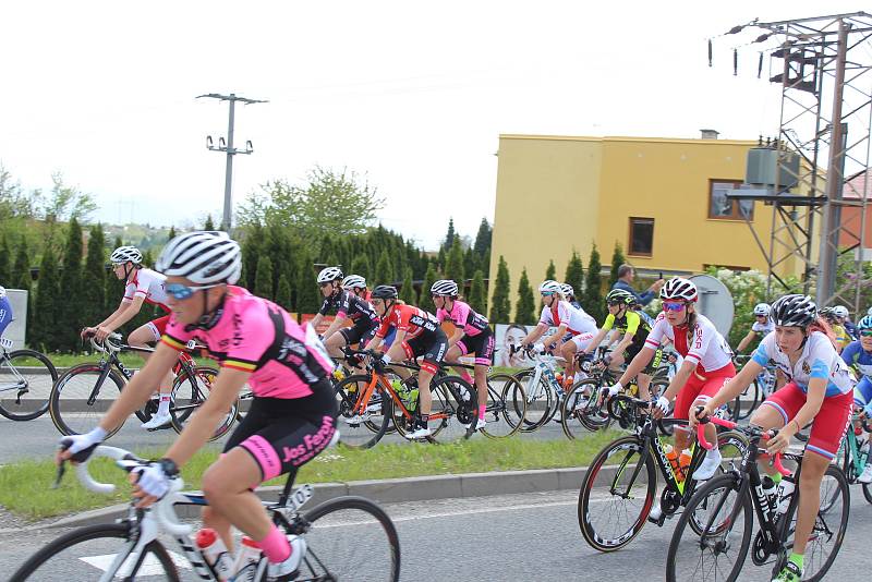
[{"label": "pale white overcast sky above trees and yellow building", "polygon": [[[25,187],[55,170],[95,218],[219,217],[228,107],[239,106],[235,201],[314,165],[365,173],[383,223],[433,248],[452,216],[493,220],[500,133],[722,138],[775,134],[778,92],[758,49],[705,40],[736,24],[860,2],[4,2],[0,163]],[[761,31],[762,33],[762,31]],[[756,29],[753,33],[756,36]]]}]

